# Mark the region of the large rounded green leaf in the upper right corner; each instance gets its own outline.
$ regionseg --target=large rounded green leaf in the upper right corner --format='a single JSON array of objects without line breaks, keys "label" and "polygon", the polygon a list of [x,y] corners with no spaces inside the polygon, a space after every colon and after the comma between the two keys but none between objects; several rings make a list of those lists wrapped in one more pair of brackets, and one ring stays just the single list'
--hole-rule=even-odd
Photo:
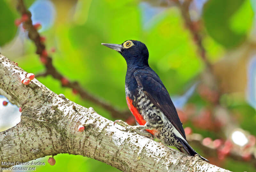
[{"label": "large rounded green leaf in the upper right corner", "polygon": [[203,19],[209,35],[226,48],[241,44],[253,21],[250,0],[209,0]]}]

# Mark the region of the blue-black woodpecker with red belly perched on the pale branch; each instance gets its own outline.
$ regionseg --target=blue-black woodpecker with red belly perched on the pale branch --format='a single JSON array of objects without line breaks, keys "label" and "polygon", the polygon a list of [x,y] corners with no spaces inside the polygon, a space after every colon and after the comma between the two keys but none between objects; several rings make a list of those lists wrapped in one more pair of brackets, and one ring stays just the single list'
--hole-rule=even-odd
[{"label": "blue-black woodpecker with red belly perched on the pale branch", "polygon": [[135,40],[128,40],[122,44],[102,45],[118,51],[127,63],[126,102],[137,123],[137,126],[130,126],[124,121],[116,120],[114,126],[118,123],[127,131],[156,137],[165,145],[175,146],[180,152],[188,155],[198,154],[188,144],[176,108],[163,82],[148,65],[146,45]]}]

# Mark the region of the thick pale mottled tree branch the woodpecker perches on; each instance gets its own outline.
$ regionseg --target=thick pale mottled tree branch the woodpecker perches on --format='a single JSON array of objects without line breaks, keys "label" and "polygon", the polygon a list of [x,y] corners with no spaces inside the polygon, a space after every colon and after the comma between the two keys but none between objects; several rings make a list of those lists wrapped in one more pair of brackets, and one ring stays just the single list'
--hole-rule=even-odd
[{"label": "thick pale mottled tree branch the woodpecker perches on", "polygon": [[[93,108],[53,93],[36,79],[25,86],[20,82],[25,74],[0,55],[0,88],[22,107],[20,123],[0,132],[0,167],[2,161],[27,162],[69,153],[122,171],[228,171],[137,133],[118,130]],[[81,124],[85,130],[78,132]]]}]

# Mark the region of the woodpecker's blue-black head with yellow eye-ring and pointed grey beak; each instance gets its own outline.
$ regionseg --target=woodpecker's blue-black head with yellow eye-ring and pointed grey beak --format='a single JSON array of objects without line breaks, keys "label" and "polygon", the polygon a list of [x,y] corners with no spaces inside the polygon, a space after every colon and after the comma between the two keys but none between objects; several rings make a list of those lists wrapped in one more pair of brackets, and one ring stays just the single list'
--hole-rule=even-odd
[{"label": "woodpecker's blue-black head with yellow eye-ring and pointed grey beak", "polygon": [[102,45],[119,52],[128,66],[148,66],[148,49],[140,41],[128,40],[122,44],[102,43]]}]

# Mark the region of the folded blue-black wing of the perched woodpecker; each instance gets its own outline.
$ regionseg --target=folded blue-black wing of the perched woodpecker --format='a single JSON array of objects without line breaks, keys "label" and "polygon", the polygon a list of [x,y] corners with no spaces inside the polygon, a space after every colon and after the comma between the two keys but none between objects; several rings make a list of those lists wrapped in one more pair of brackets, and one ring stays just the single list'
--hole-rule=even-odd
[{"label": "folded blue-black wing of the perched woodpecker", "polygon": [[138,69],[133,72],[133,75],[148,99],[164,113],[181,136],[186,139],[176,108],[156,72],[152,69]]}]

